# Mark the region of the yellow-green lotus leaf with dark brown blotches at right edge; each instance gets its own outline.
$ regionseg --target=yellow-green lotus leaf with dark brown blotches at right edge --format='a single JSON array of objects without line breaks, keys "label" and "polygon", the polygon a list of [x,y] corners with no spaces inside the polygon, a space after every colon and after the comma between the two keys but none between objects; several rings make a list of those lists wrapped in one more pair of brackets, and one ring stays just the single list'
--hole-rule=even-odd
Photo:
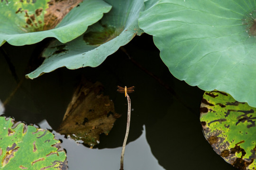
[{"label": "yellow-green lotus leaf with dark brown blotches at right edge", "polygon": [[205,92],[200,120],[216,153],[240,170],[256,169],[256,108],[228,93]]}]

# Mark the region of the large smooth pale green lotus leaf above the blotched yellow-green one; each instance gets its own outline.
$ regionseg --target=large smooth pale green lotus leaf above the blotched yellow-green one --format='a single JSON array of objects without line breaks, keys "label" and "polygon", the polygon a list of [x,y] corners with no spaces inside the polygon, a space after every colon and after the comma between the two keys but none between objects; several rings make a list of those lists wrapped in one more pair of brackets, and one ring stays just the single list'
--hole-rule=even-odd
[{"label": "large smooth pale green lotus leaf above the blotched yellow-green one", "polygon": [[154,36],[175,77],[256,107],[254,0],[147,0],[145,5],[139,26]]}]

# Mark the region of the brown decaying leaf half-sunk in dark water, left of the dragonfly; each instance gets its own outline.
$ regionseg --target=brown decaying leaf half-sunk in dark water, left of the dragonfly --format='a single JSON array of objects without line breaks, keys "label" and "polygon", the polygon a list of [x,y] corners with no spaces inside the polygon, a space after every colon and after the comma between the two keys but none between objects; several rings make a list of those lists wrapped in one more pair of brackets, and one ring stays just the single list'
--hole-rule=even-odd
[{"label": "brown decaying leaf half-sunk in dark water, left of the dragonfly", "polygon": [[102,94],[101,83],[82,81],[76,88],[58,132],[76,141],[94,146],[100,143],[100,134],[108,135],[119,114],[108,96]]}]

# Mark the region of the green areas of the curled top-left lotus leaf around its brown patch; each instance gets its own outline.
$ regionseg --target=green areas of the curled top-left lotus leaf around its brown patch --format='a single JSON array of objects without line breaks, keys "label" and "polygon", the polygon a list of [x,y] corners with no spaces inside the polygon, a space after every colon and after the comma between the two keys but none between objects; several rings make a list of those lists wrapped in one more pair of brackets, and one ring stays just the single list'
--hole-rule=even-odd
[{"label": "green areas of the curled top-left lotus leaf around its brown patch", "polygon": [[[49,0],[1,0],[0,45],[25,45],[55,37],[69,42],[83,34],[88,26],[96,23],[111,6],[103,0],[83,0],[73,8],[53,29],[44,30]],[[68,2],[68,1],[67,1]],[[61,11],[61,9],[55,9]],[[51,11],[48,11],[51,12]],[[55,20],[54,16],[48,19]]]}]

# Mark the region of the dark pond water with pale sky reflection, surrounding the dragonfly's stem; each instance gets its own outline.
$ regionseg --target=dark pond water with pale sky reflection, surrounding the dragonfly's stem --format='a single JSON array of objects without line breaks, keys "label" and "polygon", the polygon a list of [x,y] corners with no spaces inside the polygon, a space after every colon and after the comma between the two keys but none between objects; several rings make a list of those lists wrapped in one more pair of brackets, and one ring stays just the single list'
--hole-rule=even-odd
[{"label": "dark pond water with pale sky reflection, surrounding the dragonfly's stem", "polygon": [[6,101],[22,80],[5,106],[7,116],[56,129],[81,76],[100,81],[116,112],[122,114],[94,149],[58,136],[64,140],[70,170],[119,170],[127,101],[116,93],[117,85],[136,86],[136,92],[130,94],[132,116],[125,170],[236,170],[203,136],[199,120],[203,91],[171,75],[151,36],[143,34],[124,46],[132,59],[119,50],[97,68],[60,68],[34,80],[23,79],[31,67],[30,56],[37,57],[40,52],[39,45],[3,45],[8,58],[0,53],[0,100]]}]

